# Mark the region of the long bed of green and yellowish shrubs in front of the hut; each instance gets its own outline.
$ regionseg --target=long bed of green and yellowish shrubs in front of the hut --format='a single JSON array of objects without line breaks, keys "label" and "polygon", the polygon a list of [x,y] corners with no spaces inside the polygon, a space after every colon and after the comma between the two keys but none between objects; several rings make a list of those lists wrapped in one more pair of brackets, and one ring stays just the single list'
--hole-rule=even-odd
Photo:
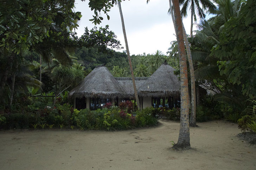
[{"label": "long bed of green and yellowish shrubs in front of the hut", "polygon": [[58,103],[60,104],[57,104],[56,107],[46,106],[39,109],[41,104],[49,105],[51,99],[38,97],[36,102],[32,102],[35,99],[27,100],[31,104],[27,106],[27,111],[0,115],[1,129],[62,129],[64,127],[80,130],[126,130],[157,124],[153,108],[131,112],[127,104],[121,104],[122,107],[114,107],[110,104],[109,108],[79,111],[73,109],[69,104],[61,104],[64,101],[64,97],[62,97],[59,98]]}]

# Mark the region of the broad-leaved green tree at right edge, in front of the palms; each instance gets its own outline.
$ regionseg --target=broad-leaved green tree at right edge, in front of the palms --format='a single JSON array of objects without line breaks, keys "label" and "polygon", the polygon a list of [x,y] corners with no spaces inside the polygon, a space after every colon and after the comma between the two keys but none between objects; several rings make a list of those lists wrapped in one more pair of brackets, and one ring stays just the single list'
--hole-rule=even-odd
[{"label": "broad-leaved green tree at right edge, in front of the palms", "polygon": [[218,58],[220,75],[227,76],[233,85],[242,87],[242,93],[256,98],[256,5],[248,0],[237,17],[231,17],[220,33],[220,43],[211,56]]}]

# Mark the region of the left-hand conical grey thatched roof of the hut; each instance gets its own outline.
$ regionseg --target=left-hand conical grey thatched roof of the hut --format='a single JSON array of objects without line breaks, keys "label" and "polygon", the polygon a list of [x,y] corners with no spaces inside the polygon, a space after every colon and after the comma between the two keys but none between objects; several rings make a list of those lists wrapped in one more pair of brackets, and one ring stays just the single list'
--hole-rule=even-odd
[{"label": "left-hand conical grey thatched roof of the hut", "polygon": [[69,93],[70,98],[115,98],[125,96],[123,87],[109,72],[108,68],[97,66],[81,83]]}]

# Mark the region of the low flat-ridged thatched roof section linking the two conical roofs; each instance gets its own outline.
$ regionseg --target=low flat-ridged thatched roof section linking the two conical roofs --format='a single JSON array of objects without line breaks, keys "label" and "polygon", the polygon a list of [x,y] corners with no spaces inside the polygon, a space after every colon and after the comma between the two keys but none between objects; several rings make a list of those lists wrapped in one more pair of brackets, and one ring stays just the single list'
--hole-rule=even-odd
[{"label": "low flat-ridged thatched roof section linking the two conical roofs", "polygon": [[[135,77],[135,84],[137,90],[149,77]],[[126,92],[125,98],[134,98],[133,81],[131,77],[115,77],[118,83]]]}]

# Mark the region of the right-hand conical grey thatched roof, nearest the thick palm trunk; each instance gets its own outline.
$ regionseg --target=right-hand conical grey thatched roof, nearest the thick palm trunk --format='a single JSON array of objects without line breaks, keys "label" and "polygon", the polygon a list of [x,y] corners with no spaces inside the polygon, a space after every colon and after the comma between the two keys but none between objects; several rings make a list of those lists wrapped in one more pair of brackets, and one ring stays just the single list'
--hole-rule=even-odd
[{"label": "right-hand conical grey thatched roof, nearest the thick palm trunk", "polygon": [[180,95],[180,81],[167,63],[162,64],[145,82],[139,87],[139,96],[168,97]]}]

